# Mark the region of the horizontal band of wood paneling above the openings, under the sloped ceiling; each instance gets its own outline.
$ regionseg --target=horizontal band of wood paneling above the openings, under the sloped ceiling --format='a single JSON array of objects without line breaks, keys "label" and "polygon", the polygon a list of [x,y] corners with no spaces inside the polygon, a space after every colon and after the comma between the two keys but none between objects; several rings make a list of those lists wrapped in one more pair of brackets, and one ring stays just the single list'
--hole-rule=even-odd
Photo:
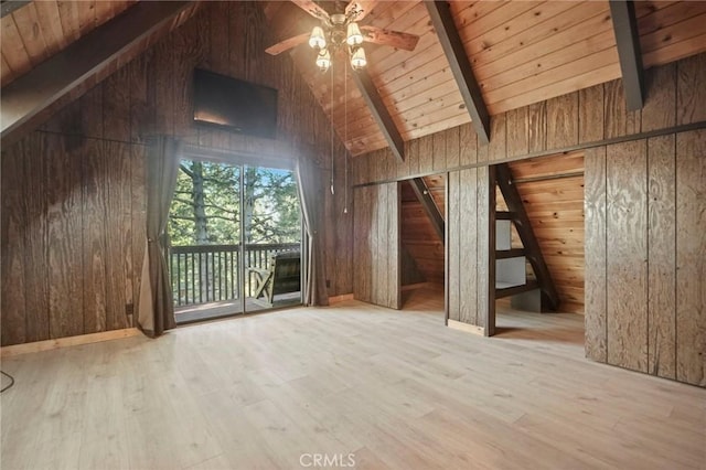
[{"label": "horizontal band of wood paneling above the openings, under the sloped ceiling", "polygon": [[[648,95],[642,110],[625,109],[620,79],[607,82],[492,116],[489,145],[478,145],[471,125],[463,125],[405,142],[404,162],[396,161],[389,149],[355,157],[353,184],[559,153],[606,139],[706,121],[706,53],[645,74]],[[469,151],[477,160],[469,160]]]}]

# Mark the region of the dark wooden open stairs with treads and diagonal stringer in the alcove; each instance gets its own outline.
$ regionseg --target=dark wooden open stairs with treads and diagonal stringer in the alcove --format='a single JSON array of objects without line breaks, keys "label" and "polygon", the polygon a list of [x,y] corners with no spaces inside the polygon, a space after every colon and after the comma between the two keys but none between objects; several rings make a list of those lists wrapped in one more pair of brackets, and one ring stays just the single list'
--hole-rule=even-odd
[{"label": "dark wooden open stairs with treads and diagonal stringer in the alcove", "polygon": [[526,280],[523,285],[514,285],[507,287],[500,287],[495,284],[495,275],[493,269],[493,278],[491,279],[491,289],[494,290],[495,299],[504,297],[515,296],[517,293],[526,292],[539,288],[542,291],[543,305],[546,305],[549,309],[556,310],[559,306],[559,296],[547,268],[544,256],[539,248],[537,238],[534,235],[530,217],[522,202],[522,197],[517,192],[517,188],[513,183],[512,172],[507,163],[500,163],[495,165],[494,171],[491,172],[491,194],[495,192],[495,183],[505,200],[507,211],[495,210],[495,197],[491,197],[491,246],[495,247],[495,221],[511,221],[520,235],[523,248],[512,248],[504,250],[491,249],[490,265],[494,268],[496,259],[509,259],[525,257],[530,260],[532,269],[536,276],[536,280]]}]

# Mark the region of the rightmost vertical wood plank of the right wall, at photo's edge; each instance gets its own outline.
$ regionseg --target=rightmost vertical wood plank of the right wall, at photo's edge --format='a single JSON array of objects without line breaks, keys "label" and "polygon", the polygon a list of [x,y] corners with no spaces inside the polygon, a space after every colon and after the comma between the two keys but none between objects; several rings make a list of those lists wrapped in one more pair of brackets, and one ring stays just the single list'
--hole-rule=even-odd
[{"label": "rightmost vertical wood plank of the right wall, at photo's edge", "polygon": [[676,136],[676,377],[706,386],[706,131]]}]

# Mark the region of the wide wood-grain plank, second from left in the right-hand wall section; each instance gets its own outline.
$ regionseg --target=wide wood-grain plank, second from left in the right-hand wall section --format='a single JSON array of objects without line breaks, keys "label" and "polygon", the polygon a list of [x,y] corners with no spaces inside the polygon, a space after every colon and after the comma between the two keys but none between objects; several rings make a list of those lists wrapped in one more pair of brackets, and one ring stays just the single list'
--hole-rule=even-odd
[{"label": "wide wood-grain plank, second from left in the right-hand wall section", "polygon": [[608,146],[606,154],[608,362],[648,372],[646,142]]}]

